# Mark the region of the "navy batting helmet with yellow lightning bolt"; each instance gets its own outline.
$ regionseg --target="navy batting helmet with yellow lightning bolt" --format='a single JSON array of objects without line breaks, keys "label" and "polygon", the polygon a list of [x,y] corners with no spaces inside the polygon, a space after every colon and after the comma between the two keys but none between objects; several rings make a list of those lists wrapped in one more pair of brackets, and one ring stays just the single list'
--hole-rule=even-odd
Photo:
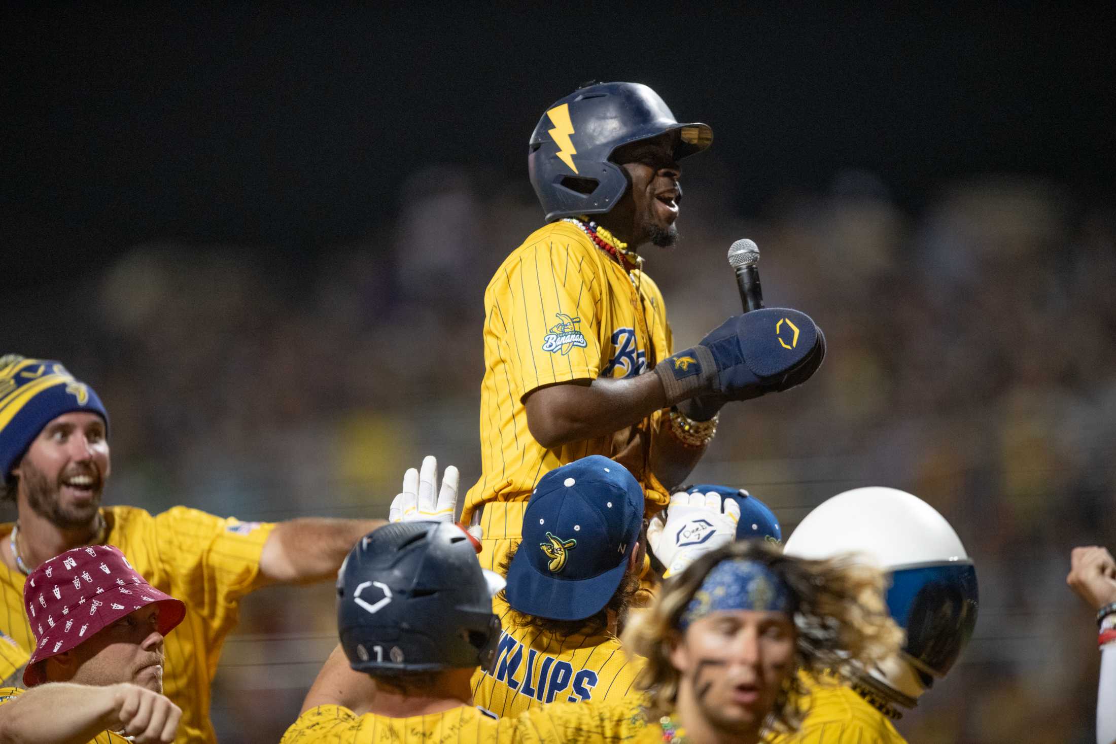
[{"label": "navy batting helmet with yellow lightning bolt", "polygon": [[613,209],[627,176],[609,157],[620,145],[679,132],[674,158],[713,142],[705,124],[680,124],[654,90],[638,83],[598,83],[556,102],[531,134],[527,165],[547,222]]}]

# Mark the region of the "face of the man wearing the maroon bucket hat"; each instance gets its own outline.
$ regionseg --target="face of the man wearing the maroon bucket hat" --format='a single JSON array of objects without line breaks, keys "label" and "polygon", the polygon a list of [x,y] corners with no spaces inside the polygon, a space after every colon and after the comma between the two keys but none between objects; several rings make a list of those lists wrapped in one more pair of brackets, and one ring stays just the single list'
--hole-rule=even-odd
[{"label": "face of the man wearing the maroon bucket hat", "polygon": [[163,635],[158,632],[158,603],[141,607],[74,650],[71,682],[115,685],[129,682],[163,692]]}]

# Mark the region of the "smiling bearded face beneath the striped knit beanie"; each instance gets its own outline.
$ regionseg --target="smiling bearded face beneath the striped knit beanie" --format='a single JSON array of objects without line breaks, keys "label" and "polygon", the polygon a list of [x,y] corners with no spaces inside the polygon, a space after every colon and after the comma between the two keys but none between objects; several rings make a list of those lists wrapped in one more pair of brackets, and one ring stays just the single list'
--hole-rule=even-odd
[{"label": "smiling bearded face beneath the striped knit beanie", "polygon": [[31,510],[64,529],[97,515],[108,472],[105,422],[86,412],[62,414],[44,426],[12,470]]}]

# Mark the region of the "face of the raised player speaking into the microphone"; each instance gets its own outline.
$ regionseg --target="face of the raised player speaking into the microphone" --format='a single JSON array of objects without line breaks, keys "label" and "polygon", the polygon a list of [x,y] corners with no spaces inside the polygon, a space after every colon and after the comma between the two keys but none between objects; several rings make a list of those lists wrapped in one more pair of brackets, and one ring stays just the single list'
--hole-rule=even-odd
[{"label": "face of the raised player speaking into the microphone", "polygon": [[[632,233],[635,244],[651,241],[656,245],[673,245],[679,231],[674,221],[679,218],[682,187],[679,178],[682,168],[674,160],[674,133],[652,139],[642,139],[618,148],[613,161],[619,163],[631,177]],[[625,206],[626,199],[619,206]]]}]

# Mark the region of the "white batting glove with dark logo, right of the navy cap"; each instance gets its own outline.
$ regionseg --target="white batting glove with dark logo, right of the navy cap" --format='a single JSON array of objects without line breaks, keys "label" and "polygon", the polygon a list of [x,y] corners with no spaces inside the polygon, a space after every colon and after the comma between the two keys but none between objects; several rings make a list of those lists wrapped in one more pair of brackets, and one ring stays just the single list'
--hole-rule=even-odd
[{"label": "white batting glove with dark logo, right of the navy cap", "polygon": [[647,547],[666,567],[663,578],[681,573],[699,557],[737,539],[740,505],[719,493],[675,493],[665,512],[647,525]]}]

